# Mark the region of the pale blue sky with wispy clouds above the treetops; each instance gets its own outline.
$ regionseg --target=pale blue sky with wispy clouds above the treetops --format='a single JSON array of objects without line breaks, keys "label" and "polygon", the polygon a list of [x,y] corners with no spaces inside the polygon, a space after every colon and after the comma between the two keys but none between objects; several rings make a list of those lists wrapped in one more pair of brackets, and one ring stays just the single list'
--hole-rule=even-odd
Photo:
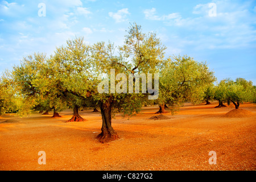
[{"label": "pale blue sky with wispy clouds above the treetops", "polygon": [[0,1],[0,72],[75,36],[121,45],[133,22],[156,32],[166,57],[188,55],[207,61],[218,81],[256,85],[256,1]]}]

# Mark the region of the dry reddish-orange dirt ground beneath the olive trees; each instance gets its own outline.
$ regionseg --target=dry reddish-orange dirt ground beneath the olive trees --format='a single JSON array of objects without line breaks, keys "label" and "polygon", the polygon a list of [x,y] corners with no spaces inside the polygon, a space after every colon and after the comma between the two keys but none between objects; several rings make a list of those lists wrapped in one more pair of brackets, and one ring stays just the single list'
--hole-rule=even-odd
[{"label": "dry reddish-orange dirt ground beneath the olive trees", "polygon": [[[32,114],[0,117],[0,170],[255,170],[256,116],[226,117],[233,106],[185,104],[170,119],[149,119],[157,106],[143,107],[130,118],[116,115],[113,127],[119,139],[99,143],[101,115],[80,111],[85,122]],[[256,114],[256,105],[242,104]],[[46,164],[38,163],[39,151]],[[210,151],[216,163],[209,164]]]}]

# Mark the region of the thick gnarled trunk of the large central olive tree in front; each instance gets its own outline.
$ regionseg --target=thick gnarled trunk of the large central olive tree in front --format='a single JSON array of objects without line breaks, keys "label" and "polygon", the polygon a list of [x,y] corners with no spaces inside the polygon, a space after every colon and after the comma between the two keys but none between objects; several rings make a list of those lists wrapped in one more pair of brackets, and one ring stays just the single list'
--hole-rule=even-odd
[{"label": "thick gnarled trunk of the large central olive tree in front", "polygon": [[118,139],[118,135],[111,125],[111,98],[105,102],[101,102],[101,116],[101,134],[97,136],[97,139],[100,140],[101,143],[106,143]]}]

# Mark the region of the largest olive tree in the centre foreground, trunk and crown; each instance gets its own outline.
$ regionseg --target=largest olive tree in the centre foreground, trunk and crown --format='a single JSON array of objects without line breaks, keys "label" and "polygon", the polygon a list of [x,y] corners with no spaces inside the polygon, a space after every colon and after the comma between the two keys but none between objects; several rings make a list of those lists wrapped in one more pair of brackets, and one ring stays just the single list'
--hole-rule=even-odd
[{"label": "largest olive tree in the centre foreground, trunk and crown", "polygon": [[[102,132],[97,137],[101,142],[118,138],[112,127],[112,115],[115,108],[123,115],[133,115],[141,110],[145,96],[152,94],[152,90],[146,89],[143,93],[135,92],[134,87],[129,87],[127,84],[133,84],[135,80],[139,81],[140,74],[157,72],[157,65],[163,61],[163,51],[166,49],[162,46],[160,39],[156,38],[155,33],[142,33],[141,26],[136,23],[131,24],[127,33],[123,46],[118,47],[117,52],[115,52],[117,47],[110,42],[108,44],[98,42],[92,46],[95,75],[100,76],[104,73],[108,75],[99,83],[101,88],[104,82],[104,86],[107,87],[107,89],[104,88],[105,92],[92,93],[94,100],[98,101],[101,108]],[[119,77],[119,73],[123,75]],[[127,81],[127,78],[130,80]],[[128,87],[129,92],[126,92],[124,88]],[[141,89],[142,85],[139,90]]]}]

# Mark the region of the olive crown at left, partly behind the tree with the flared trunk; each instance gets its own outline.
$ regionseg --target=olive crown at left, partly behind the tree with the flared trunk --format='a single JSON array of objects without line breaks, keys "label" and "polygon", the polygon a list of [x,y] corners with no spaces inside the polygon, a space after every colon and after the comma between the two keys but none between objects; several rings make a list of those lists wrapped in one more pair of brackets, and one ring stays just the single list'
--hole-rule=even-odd
[{"label": "olive crown at left, partly behind the tree with the flared trunk", "polygon": [[16,91],[24,100],[19,108],[19,115],[30,114],[33,110],[49,111],[53,107],[63,109],[58,106],[63,102],[56,100],[56,87],[49,77],[51,70],[47,65],[48,60],[45,54],[34,53],[24,57],[20,66],[14,67],[12,80]]}]

